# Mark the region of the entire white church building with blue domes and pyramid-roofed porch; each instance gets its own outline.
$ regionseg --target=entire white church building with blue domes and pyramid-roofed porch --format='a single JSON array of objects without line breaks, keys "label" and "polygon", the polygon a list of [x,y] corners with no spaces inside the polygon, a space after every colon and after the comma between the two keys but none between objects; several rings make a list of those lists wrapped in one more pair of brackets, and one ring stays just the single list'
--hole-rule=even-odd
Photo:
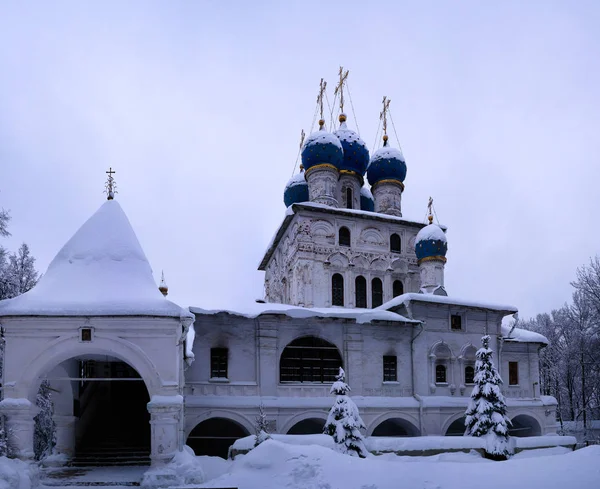
[{"label": "entire white church building with blue domes and pyramid-roofed porch", "polygon": [[39,283],[0,302],[0,412],[17,455],[33,456],[44,380],[55,452],[73,464],[161,464],[184,444],[226,456],[261,411],[273,433],[320,433],[339,367],[366,436],[462,435],[484,334],[511,434],[554,433],[556,400],[539,385],[546,338],[503,326],[513,306],[446,290],[446,228],[431,200],[427,223],[402,215],[407,165],[389,143],[387,107],[372,155],[348,127],[343,98],[337,130],[321,115],[259,265],[264,300],[236,310],[166,298],[110,173],[108,200]]}]

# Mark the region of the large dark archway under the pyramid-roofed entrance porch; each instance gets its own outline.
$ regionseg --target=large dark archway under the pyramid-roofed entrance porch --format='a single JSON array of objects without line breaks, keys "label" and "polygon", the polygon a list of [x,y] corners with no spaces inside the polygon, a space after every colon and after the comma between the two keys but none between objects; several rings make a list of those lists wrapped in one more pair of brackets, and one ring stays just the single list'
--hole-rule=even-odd
[{"label": "large dark archway under the pyramid-roofed entrance porch", "polygon": [[137,370],[92,354],[64,360],[44,378],[54,391],[55,414],[74,419],[72,465],[150,463],[150,396]]}]

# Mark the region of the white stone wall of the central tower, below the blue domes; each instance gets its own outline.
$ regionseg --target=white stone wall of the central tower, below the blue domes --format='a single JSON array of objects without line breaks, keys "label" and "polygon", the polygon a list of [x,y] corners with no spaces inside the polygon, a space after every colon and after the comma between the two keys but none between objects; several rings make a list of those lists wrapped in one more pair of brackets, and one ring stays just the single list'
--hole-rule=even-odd
[{"label": "white stone wall of the central tower, below the blue domes", "polygon": [[[340,246],[339,229],[350,230],[351,245]],[[265,271],[265,299],[306,307],[332,305],[331,277],[344,277],[344,306],[355,307],[357,276],[367,280],[367,307],[371,281],[383,282],[383,301],[392,299],[392,284],[401,280],[404,292],[420,288],[414,240],[419,224],[365,219],[348,214],[298,211],[282,236]],[[401,239],[401,252],[390,251],[390,236]]]}]

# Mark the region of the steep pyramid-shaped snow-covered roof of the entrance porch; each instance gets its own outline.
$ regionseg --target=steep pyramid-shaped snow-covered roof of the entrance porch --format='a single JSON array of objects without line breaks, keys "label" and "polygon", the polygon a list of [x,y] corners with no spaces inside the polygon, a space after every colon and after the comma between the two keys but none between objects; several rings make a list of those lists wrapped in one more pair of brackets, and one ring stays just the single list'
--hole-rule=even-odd
[{"label": "steep pyramid-shaped snow-covered roof of the entrance porch", "polygon": [[190,316],[159,292],[140,243],[115,200],[106,201],[58,252],[29,292],[0,301],[0,316]]}]

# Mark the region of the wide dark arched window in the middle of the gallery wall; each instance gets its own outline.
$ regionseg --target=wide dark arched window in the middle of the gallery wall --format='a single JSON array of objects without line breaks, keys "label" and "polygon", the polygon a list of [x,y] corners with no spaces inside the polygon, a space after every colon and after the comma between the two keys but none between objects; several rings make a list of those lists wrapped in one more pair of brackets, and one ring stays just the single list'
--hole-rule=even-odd
[{"label": "wide dark arched window in the middle of the gallery wall", "polygon": [[285,347],[279,362],[280,382],[335,382],[342,367],[340,352],[328,341],[305,336]]}]

